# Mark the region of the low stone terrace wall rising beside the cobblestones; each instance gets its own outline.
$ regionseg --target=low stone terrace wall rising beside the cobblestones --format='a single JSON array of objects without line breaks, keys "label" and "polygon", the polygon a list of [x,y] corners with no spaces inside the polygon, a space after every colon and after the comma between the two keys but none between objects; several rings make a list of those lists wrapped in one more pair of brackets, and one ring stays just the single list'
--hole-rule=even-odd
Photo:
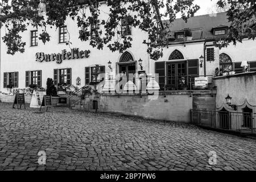
[{"label": "low stone terrace wall rising beside the cobblestones", "polygon": [[[214,96],[214,94],[213,94]],[[95,111],[93,101],[98,102],[98,111],[102,113],[119,113],[143,117],[148,119],[159,119],[163,121],[190,122],[191,109],[204,108],[215,110],[215,96],[208,92],[200,91],[192,94],[190,92],[169,92],[154,96],[139,94],[103,94],[88,96],[76,105],[75,109]],[[195,101],[193,101],[195,100]]]}]

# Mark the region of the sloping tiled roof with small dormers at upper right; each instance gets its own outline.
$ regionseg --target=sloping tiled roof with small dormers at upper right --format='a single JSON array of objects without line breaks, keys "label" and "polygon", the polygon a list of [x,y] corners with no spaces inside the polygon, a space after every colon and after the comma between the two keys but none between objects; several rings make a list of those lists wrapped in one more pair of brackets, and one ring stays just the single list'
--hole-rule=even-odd
[{"label": "sloping tiled roof with small dormers at upper right", "polygon": [[[164,20],[163,22],[168,23],[168,20]],[[184,30],[184,28],[202,28],[203,37],[205,39],[209,39],[213,37],[218,37],[213,35],[212,28],[226,27],[229,25],[230,23],[228,22],[228,16],[226,16],[226,13],[217,13],[194,16],[192,18],[189,18],[187,23],[185,23],[185,21],[181,18],[175,19],[169,27],[171,31],[180,31]]]}]

